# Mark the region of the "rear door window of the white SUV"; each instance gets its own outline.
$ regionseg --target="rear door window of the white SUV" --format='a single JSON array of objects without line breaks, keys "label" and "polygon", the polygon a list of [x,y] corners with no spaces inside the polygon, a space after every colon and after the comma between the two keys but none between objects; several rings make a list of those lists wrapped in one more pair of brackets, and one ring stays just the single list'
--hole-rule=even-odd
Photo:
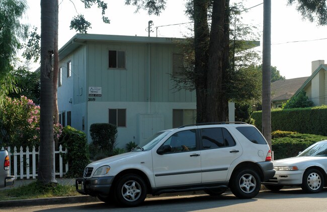
[{"label": "rear door window of the white SUV", "polygon": [[235,140],[223,127],[201,129],[203,149],[216,149],[235,146]]}]

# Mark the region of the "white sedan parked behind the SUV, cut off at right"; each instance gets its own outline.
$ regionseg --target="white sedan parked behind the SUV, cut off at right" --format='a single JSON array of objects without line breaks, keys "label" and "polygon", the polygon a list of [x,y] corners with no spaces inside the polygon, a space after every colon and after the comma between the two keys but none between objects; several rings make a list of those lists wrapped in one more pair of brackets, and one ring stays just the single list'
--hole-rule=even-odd
[{"label": "white sedan parked behind the SUV, cut off at right", "polygon": [[307,193],[318,193],[327,186],[327,140],[311,145],[296,157],[273,162],[276,174],[263,183],[272,191],[290,185],[301,186]]}]

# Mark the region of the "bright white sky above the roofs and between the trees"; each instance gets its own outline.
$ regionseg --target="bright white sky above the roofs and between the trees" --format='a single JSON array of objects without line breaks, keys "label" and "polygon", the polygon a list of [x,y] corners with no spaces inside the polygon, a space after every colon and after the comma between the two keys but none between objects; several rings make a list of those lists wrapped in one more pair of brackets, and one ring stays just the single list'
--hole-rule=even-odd
[{"label": "bright white sky above the roofs and between the trees", "polygon": [[[185,16],[185,0],[167,0],[166,10],[160,16],[148,15],[140,10],[135,13],[134,6],[126,6],[125,0],[104,0],[108,4],[106,16],[110,24],[102,22],[101,10],[96,6],[84,9],[79,0],[59,0],[59,35],[58,46],[62,47],[76,34],[69,29],[74,16],[83,14],[92,23],[90,34],[148,36],[146,28],[148,21],[153,21],[152,37],[184,37],[190,34],[192,24]],[[240,0],[230,0],[231,3]],[[263,0],[242,1],[245,8],[252,8],[242,13],[242,22],[252,24],[260,30],[262,44]],[[287,0],[272,0],[271,17],[271,65],[276,66],[286,79],[308,77],[311,75],[311,61],[325,60],[324,50],[327,46],[327,26],[317,26],[307,20],[302,20],[295,5],[287,6]],[[40,1],[27,0],[25,21],[40,29]],[[256,7],[255,7],[256,6]],[[169,26],[167,26],[169,25]],[[262,45],[256,50],[262,55]],[[34,65],[35,68],[38,64]]]}]

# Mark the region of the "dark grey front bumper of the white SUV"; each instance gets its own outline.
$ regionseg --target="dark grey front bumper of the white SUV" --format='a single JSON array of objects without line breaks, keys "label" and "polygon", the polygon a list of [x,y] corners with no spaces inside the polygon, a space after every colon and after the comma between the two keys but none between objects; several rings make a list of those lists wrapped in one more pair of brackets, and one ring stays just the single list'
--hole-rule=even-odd
[{"label": "dark grey front bumper of the white SUV", "polygon": [[91,196],[109,196],[115,176],[76,178],[75,186],[78,193]]}]

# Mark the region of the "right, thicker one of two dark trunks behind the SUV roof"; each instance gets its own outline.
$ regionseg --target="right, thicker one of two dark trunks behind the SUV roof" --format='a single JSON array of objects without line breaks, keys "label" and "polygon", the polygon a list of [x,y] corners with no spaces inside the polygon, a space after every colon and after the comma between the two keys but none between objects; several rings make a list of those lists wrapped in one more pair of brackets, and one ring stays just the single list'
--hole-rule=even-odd
[{"label": "right, thicker one of two dark trunks behind the SUV roof", "polygon": [[229,55],[229,1],[213,1],[207,75],[206,120],[228,121],[225,80]]}]

